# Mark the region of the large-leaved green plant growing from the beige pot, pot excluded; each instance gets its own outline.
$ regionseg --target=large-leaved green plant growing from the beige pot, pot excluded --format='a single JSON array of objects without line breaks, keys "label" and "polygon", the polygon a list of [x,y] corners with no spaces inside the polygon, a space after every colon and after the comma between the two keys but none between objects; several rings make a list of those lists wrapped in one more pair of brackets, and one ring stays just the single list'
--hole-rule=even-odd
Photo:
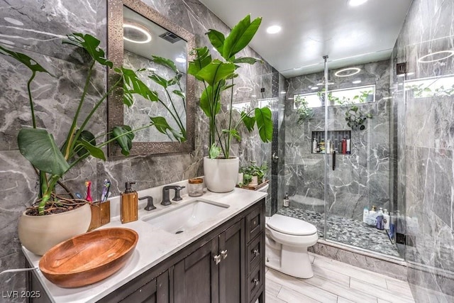
[{"label": "large-leaved green plant growing from the beige pot, pot excluded", "polygon": [[[18,147],[21,154],[31,162],[31,165],[33,165],[39,175],[40,191],[37,199],[38,207],[36,207],[36,209],[40,215],[45,214],[45,206],[48,202],[54,202],[57,205],[57,208],[61,207],[62,209],[65,209],[65,199],[62,201],[62,199],[60,199],[61,197],[57,196],[55,193],[55,186],[57,183],[60,183],[60,179],[70,171],[72,167],[87,159],[89,156],[106,160],[102,148],[114,141],[121,146],[121,153],[123,153],[123,155],[129,155],[134,132],[152,125],[150,122],[150,124],[136,129],[131,129],[129,126],[116,126],[110,133],[104,133],[95,137],[93,133],[87,130],[87,126],[96,110],[99,109],[99,106],[106,101],[107,96],[111,94],[111,92],[114,92],[122,83],[124,84],[124,104],[132,104],[133,94],[140,94],[150,101],[156,101],[155,95],[157,95],[156,92],[151,91],[143,84],[133,70],[128,70],[124,67],[116,67],[114,70],[118,72],[120,77],[118,77],[114,85],[94,102],[91,109],[88,108],[88,104],[84,107],[87,92],[92,86],[91,80],[96,63],[110,69],[114,68],[114,66],[111,61],[106,59],[104,50],[99,48],[100,41],[92,35],[73,33],[67,35],[67,39],[63,40],[63,43],[74,45],[76,48],[84,50],[89,55],[90,62],[87,78],[85,79],[82,90],[82,96],[79,99],[79,104],[77,105],[77,109],[72,118],[71,126],[67,131],[65,141],[61,143],[57,143],[54,136],[52,136],[47,129],[38,127],[35,116],[35,103],[33,102],[31,94],[31,84],[38,72],[47,73],[50,76],[52,75],[31,57],[28,57],[23,53],[13,52],[0,45],[0,53],[2,55],[13,57],[18,60],[18,62],[26,65],[32,73],[27,82],[32,126],[21,128],[18,133]],[[86,114],[86,116],[82,116],[82,113],[84,112],[82,110],[83,107],[85,109],[88,108],[88,114]],[[82,121],[82,123],[80,121]]]}]

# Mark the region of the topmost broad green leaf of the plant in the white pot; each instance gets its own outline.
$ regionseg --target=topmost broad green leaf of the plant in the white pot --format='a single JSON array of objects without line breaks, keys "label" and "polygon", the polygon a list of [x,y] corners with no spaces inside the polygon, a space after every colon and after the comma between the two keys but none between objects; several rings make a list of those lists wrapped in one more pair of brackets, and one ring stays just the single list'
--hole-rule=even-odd
[{"label": "topmost broad green leaf of the plant in the white pot", "polygon": [[248,15],[238,22],[236,26],[233,26],[231,33],[228,34],[223,43],[222,57],[226,60],[231,60],[232,57],[234,59],[236,53],[243,50],[250,43],[250,40],[254,38],[261,22],[262,18],[260,17],[250,22],[250,15]]}]

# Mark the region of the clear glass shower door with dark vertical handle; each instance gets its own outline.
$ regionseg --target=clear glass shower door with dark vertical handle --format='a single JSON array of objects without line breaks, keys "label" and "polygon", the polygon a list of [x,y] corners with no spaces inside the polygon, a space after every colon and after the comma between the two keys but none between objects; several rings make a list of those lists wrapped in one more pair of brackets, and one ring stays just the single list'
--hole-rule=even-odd
[{"label": "clear glass shower door with dark vertical handle", "polygon": [[328,72],[326,239],[399,258],[391,229],[389,60]]}]

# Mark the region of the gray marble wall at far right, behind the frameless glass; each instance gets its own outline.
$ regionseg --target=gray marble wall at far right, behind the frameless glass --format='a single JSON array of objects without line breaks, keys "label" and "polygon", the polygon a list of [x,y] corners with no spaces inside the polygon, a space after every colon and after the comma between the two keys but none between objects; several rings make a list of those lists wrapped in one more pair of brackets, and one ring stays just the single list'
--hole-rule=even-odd
[{"label": "gray marble wall at far right, behind the frameless glass", "polygon": [[[447,81],[444,89],[454,84],[454,57],[434,55],[426,58],[434,62],[419,62],[429,53],[453,52],[453,15],[453,1],[414,0],[391,62],[392,75],[400,62],[413,73],[405,79],[393,77],[393,97],[402,132],[397,165],[404,172],[397,196],[406,203],[406,261],[416,302],[454,299],[454,96],[438,84]],[[432,95],[419,97],[418,89],[403,92],[402,87],[419,85],[414,81],[424,78],[429,81],[420,89],[428,88]]]}]

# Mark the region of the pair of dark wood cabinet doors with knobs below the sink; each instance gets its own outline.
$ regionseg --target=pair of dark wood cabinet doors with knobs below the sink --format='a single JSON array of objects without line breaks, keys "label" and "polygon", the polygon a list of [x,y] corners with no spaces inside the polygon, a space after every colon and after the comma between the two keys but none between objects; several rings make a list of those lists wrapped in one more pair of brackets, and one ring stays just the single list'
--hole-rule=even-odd
[{"label": "pair of dark wood cabinet doors with knobs below the sink", "polygon": [[244,238],[240,220],[179,261],[173,269],[175,303],[245,302]]}]

